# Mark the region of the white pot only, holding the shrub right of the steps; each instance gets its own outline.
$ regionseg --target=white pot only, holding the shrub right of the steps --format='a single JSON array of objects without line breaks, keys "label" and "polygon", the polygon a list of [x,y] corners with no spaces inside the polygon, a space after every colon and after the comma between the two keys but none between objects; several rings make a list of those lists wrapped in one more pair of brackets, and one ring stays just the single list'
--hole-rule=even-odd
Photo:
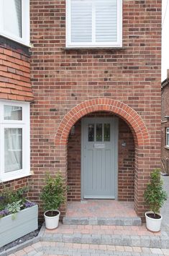
[{"label": "white pot only, holding the shrub right of the steps", "polygon": [[145,213],[147,229],[153,232],[160,231],[161,221],[163,217],[160,215],[160,213],[157,213],[157,215],[159,215],[161,218],[150,218],[149,216],[147,216],[148,213],[152,212],[150,211]]}]

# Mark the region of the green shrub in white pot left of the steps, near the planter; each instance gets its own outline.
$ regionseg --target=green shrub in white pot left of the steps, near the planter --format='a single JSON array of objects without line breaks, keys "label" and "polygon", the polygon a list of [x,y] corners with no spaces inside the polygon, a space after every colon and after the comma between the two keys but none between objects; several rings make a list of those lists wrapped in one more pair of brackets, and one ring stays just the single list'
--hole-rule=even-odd
[{"label": "green shrub in white pot left of the steps, near the planter", "polygon": [[47,229],[56,229],[60,218],[60,205],[65,201],[65,186],[60,174],[54,177],[49,174],[45,179],[45,186],[42,187],[40,199],[45,210],[45,226]]}]

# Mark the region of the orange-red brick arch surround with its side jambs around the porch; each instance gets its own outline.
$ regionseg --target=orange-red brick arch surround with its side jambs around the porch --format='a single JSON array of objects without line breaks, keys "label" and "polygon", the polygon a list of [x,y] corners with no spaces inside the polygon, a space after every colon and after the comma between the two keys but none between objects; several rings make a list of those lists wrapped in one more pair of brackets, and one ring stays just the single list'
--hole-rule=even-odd
[{"label": "orange-red brick arch surround with its side jambs around the porch", "polygon": [[55,137],[55,144],[58,145],[58,148],[64,151],[63,155],[60,155],[62,159],[62,166],[60,166],[60,170],[65,175],[65,179],[68,179],[68,159],[67,159],[67,145],[68,145],[68,135],[70,134],[70,129],[73,127],[76,122],[83,118],[84,116],[91,114],[93,112],[105,111],[110,114],[115,114],[120,117],[120,119],[124,120],[125,123],[132,131],[132,135],[134,138],[134,150],[135,155],[137,157],[134,158],[134,171],[135,171],[135,179],[134,179],[134,208],[138,214],[142,212],[142,202],[140,202],[140,150],[142,150],[145,146],[149,145],[149,135],[147,132],[147,127],[145,127],[144,121],[139,114],[137,114],[134,109],[130,108],[126,104],[114,101],[107,98],[99,98],[93,99],[89,101],[85,101],[83,103],[78,104],[74,108],[72,108],[68,114],[66,114],[63,120],[60,122],[58,127],[58,132]]}]

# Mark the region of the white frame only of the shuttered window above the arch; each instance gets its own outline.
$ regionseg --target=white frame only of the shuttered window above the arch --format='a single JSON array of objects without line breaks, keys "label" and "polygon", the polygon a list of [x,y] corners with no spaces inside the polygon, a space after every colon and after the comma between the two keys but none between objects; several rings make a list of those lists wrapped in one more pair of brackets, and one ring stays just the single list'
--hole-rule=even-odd
[{"label": "white frame only of the shuttered window above the arch", "polygon": [[[67,48],[120,48],[122,47],[122,0],[117,0],[117,42],[112,43],[72,43],[71,42],[71,14],[70,14],[70,1],[66,0],[66,47]],[[94,29],[94,22],[92,24]]]}]

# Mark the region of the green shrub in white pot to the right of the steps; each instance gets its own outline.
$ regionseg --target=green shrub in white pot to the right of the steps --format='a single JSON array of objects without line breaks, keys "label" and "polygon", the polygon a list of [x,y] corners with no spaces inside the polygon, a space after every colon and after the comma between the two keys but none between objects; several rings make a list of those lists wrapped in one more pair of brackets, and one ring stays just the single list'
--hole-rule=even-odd
[{"label": "green shrub in white pot to the right of the steps", "polygon": [[160,169],[155,168],[150,175],[150,183],[144,193],[145,202],[149,205],[150,211],[145,213],[146,226],[150,231],[160,231],[162,216],[160,208],[167,200],[167,193],[163,190],[163,182],[160,180]]}]

